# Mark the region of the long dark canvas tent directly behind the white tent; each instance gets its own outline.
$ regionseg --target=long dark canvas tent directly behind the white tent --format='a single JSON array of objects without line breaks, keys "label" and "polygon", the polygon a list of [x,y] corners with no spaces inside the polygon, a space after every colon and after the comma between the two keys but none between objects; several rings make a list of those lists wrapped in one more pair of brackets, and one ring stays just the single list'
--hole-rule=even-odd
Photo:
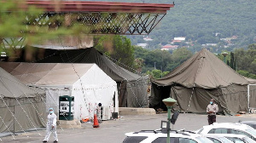
[{"label": "long dark canvas tent directly behind the white tent", "polygon": [[[118,83],[119,106],[148,107],[148,77],[141,77],[125,70],[95,48],[57,50],[27,46],[17,53],[20,54],[15,55],[16,58],[9,59],[15,62],[96,63],[103,72]],[[133,86],[134,83],[136,86]]]}]

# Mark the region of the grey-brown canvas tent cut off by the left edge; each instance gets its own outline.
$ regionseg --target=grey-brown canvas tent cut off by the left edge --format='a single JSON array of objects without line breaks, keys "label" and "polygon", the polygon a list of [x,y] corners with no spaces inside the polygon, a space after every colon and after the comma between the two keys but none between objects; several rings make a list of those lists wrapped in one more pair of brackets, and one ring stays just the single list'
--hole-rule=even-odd
[{"label": "grey-brown canvas tent cut off by the left edge", "polygon": [[45,92],[29,88],[0,67],[0,132],[45,127]]}]

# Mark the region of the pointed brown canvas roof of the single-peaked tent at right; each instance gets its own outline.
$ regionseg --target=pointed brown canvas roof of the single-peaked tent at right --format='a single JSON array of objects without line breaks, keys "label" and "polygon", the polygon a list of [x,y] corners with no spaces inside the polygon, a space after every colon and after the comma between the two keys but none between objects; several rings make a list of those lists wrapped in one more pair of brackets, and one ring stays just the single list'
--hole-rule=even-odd
[{"label": "pointed brown canvas roof of the single-peaked tent at right", "polygon": [[155,80],[154,83],[160,86],[177,83],[186,88],[216,89],[231,84],[245,85],[248,81],[216,55],[202,49],[166,77]]}]

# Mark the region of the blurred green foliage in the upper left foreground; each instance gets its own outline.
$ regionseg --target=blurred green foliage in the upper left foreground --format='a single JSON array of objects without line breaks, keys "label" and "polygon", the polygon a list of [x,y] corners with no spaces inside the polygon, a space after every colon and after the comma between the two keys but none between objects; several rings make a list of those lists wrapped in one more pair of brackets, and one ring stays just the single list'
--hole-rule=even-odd
[{"label": "blurred green foliage in the upper left foreground", "polygon": [[[51,14],[47,14],[45,9],[25,3],[26,0],[1,1],[0,51],[8,53],[9,56],[15,54],[15,48],[20,45],[40,44],[63,35],[79,37],[81,31],[86,29],[86,26],[76,22],[73,22],[73,26],[66,25],[67,19],[63,16],[49,16]],[[55,4],[55,7],[59,6]]]}]

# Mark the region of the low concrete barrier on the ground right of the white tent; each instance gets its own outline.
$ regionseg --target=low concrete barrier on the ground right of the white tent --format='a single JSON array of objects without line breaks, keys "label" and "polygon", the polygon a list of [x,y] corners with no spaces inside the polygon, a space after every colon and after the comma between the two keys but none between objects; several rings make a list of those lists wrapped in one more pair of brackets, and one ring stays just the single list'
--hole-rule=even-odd
[{"label": "low concrete barrier on the ground right of the white tent", "polygon": [[154,115],[153,108],[131,108],[131,107],[119,107],[119,116],[124,115]]}]

